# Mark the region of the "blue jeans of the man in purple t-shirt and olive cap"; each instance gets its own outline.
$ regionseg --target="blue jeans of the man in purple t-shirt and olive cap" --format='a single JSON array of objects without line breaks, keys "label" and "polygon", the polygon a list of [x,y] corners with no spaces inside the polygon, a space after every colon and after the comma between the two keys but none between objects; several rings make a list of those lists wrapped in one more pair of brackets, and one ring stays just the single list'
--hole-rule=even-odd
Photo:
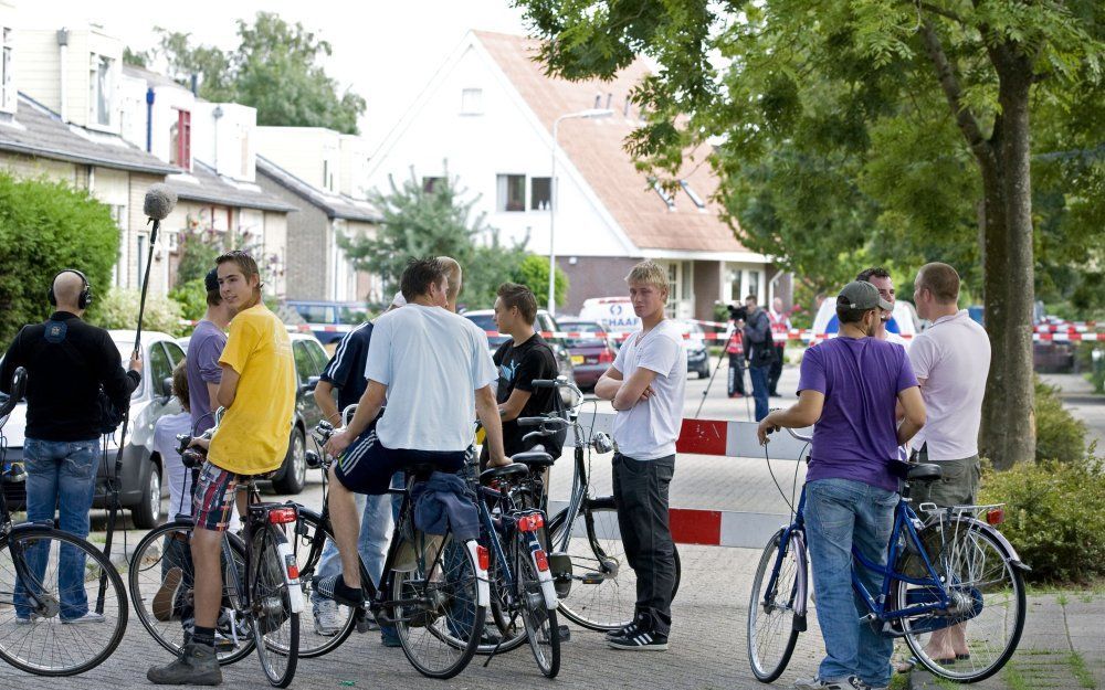
[{"label": "blue jeans of the man in purple t-shirt and olive cap", "polygon": [[[897,501],[894,491],[851,479],[806,485],[806,532],[818,623],[825,641],[825,658],[818,671],[822,680],[859,676],[870,686],[890,683],[894,639],[860,622],[869,611],[852,590],[852,546],[872,563],[885,565]],[[882,574],[859,563],[855,567],[867,593],[877,599]]]}]

